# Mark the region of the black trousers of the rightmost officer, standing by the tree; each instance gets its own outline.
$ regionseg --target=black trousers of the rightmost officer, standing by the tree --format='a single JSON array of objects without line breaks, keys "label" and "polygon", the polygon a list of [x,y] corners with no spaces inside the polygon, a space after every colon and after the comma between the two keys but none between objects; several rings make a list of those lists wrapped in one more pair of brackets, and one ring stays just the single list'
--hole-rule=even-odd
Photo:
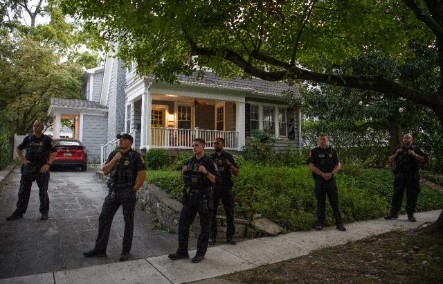
[{"label": "black trousers of the rightmost officer, standing by the tree", "polygon": [[419,172],[397,171],[394,177],[394,194],[392,195],[390,211],[397,214],[401,209],[404,190],[406,189],[406,213],[414,213],[420,193]]}]

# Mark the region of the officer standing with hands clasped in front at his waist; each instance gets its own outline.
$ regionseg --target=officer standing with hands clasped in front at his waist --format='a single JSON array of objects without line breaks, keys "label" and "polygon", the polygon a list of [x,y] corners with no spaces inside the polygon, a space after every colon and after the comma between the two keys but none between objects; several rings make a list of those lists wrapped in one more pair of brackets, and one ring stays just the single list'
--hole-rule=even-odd
[{"label": "officer standing with hands clasped in front at his waist", "polygon": [[341,163],[338,159],[337,151],[329,146],[327,134],[322,133],[318,136],[318,147],[311,150],[309,154],[309,168],[311,168],[316,184],[315,195],[317,199],[317,226],[320,231],[325,227],[326,214],[326,195],[334,214],[336,228],[340,231],[346,231],[343,225],[343,219],[340,213],[340,203],[338,202],[337,183],[334,175],[340,170]]}]

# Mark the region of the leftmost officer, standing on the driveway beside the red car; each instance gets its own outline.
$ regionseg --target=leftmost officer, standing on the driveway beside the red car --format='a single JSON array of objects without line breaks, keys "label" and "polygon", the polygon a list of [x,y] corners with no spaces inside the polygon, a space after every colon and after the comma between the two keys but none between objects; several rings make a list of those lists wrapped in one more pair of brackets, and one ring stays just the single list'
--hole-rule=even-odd
[{"label": "leftmost officer, standing on the driveway beside the red car", "polygon": [[[21,179],[19,189],[19,200],[17,201],[17,208],[14,213],[6,220],[16,220],[23,218],[23,214],[28,209],[28,202],[30,196],[30,188],[33,181],[37,182],[39,187],[40,208],[42,213],[40,220],[48,220],[49,211],[49,167],[53,163],[57,150],[53,145],[53,139],[48,135],[43,134],[44,125],[41,121],[35,121],[33,124],[34,134],[26,136],[23,142],[17,147],[17,154],[23,163],[21,166]],[[25,157],[21,153],[26,149]]]}]

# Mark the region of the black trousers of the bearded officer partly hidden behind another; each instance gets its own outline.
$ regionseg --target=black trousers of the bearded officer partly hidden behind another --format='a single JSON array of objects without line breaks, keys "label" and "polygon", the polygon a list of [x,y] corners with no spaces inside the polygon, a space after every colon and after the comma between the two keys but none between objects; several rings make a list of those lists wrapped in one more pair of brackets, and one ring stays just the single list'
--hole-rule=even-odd
[{"label": "black trousers of the bearded officer partly hidden behind another", "polygon": [[210,238],[217,238],[217,210],[219,208],[219,202],[223,204],[224,211],[226,212],[226,222],[228,227],[226,228],[226,239],[230,240],[235,235],[234,224],[234,192],[232,188],[217,188],[214,191],[214,211],[210,222]]}]

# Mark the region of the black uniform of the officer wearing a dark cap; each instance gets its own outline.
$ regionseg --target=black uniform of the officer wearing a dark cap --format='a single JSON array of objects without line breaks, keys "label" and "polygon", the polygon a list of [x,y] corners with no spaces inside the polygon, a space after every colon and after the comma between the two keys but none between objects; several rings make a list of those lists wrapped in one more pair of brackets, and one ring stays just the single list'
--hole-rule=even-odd
[{"label": "black uniform of the officer wearing a dark cap", "polygon": [[[106,163],[109,163],[119,151],[109,154]],[[109,193],[102,206],[102,212],[98,218],[98,236],[94,249],[105,252],[111,224],[120,205],[123,207],[123,218],[125,220],[125,233],[123,235],[123,253],[129,253],[132,247],[132,235],[134,233],[134,211],[136,206],[136,184],[137,174],[146,170],[145,161],[138,152],[130,149],[123,154],[109,173]]]}]

